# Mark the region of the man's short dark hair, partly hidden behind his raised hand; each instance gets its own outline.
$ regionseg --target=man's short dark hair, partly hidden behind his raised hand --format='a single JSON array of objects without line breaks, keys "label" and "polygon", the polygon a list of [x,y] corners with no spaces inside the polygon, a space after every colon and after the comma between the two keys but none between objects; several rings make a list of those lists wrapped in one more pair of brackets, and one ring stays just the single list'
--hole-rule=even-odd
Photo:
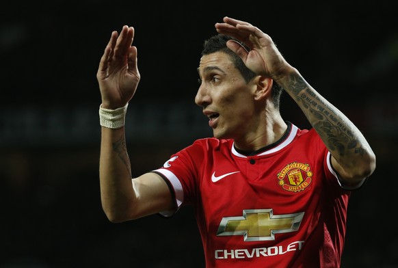
[{"label": "man's short dark hair, partly hidden behind his raised hand", "polygon": [[[230,56],[235,68],[239,70],[241,73],[243,79],[245,79],[246,83],[248,83],[250,80],[252,80],[254,77],[257,76],[255,72],[250,70],[242,61],[242,59],[235,54],[233,51],[228,49],[228,46],[226,46],[226,42],[228,40],[235,40],[241,46],[243,46],[247,51],[250,51],[250,48],[246,46],[246,44],[243,44],[242,42],[239,42],[239,40],[231,37],[231,36],[226,36],[224,34],[217,34],[215,36],[211,36],[211,38],[207,39],[204,41],[203,44],[203,50],[202,50],[202,56],[203,55],[209,55],[211,53],[215,52],[222,52],[226,53],[227,55]],[[283,88],[274,81],[272,84],[272,89],[271,89],[271,96],[272,96],[272,101],[276,107],[279,108],[280,105],[280,96],[283,92]]]}]

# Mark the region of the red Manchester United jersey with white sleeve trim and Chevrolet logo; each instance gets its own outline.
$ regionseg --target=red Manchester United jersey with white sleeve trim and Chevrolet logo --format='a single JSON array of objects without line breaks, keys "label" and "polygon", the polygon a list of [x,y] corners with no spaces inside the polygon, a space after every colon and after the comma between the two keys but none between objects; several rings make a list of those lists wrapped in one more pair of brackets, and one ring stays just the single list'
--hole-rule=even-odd
[{"label": "red Manchester United jersey with white sleeve trim and Chevrolet logo", "polygon": [[207,267],[340,266],[350,191],[315,130],[289,123],[250,156],[231,139],[198,139],[153,172],[178,208],[194,206]]}]

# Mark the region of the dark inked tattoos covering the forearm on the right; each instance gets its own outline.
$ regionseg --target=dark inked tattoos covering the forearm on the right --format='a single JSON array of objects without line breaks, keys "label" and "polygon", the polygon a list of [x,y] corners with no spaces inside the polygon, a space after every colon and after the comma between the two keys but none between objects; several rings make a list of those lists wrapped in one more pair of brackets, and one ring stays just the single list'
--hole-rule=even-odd
[{"label": "dark inked tattoos covering the forearm on the right", "polygon": [[349,128],[350,122],[342,118],[339,111],[325,100],[320,98],[309,85],[297,75],[291,75],[288,88],[293,93],[298,105],[300,105],[319,133],[329,150],[337,151],[344,156],[349,150],[355,154],[363,155],[358,137]]}]

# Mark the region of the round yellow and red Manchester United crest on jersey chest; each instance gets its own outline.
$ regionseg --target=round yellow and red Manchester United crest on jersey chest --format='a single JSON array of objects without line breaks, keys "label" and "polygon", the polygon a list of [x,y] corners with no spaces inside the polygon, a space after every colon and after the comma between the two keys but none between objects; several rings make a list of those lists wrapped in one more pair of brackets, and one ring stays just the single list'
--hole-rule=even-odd
[{"label": "round yellow and red Manchester United crest on jersey chest", "polygon": [[278,183],[286,191],[302,191],[310,185],[312,176],[310,165],[293,162],[278,173]]}]

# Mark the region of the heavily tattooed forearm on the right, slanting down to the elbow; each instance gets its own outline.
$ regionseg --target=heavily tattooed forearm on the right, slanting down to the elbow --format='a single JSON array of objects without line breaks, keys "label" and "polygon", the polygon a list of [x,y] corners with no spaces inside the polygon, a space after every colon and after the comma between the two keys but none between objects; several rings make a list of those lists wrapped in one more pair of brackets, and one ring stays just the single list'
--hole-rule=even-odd
[{"label": "heavily tattooed forearm on the right, slanting down to the elbow", "polygon": [[375,155],[358,128],[314,90],[294,68],[278,81],[302,109],[348,182],[356,183],[375,168]]}]

